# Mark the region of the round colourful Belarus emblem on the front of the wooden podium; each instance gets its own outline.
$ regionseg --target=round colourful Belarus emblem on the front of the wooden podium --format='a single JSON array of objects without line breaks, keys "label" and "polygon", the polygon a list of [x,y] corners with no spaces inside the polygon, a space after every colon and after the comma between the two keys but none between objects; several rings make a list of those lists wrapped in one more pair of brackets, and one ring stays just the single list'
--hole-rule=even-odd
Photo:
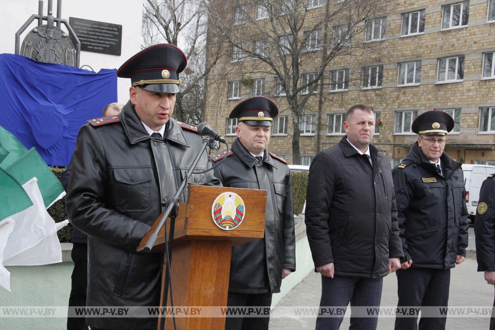
[{"label": "round colourful Belarus emblem on the front of the wooden podium", "polygon": [[237,228],[243,222],[246,206],[235,192],[223,192],[215,198],[211,207],[211,216],[215,225],[223,230]]}]

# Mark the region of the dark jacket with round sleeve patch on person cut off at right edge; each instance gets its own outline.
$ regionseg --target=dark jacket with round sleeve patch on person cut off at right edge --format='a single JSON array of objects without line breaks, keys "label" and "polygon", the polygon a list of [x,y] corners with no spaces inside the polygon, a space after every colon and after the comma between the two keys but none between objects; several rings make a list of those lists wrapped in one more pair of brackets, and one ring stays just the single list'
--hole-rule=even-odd
[{"label": "dark jacket with round sleeve patch on person cut off at right edge", "polygon": [[495,271],[495,173],[483,181],[476,209],[474,234],[478,272]]}]

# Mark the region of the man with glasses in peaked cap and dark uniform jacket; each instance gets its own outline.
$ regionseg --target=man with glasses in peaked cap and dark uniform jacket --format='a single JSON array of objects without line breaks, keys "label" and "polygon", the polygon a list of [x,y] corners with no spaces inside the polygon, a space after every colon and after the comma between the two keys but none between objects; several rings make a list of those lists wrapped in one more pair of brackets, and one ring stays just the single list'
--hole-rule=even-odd
[{"label": "man with glasses in peaked cap and dark uniform jacket", "polygon": [[[395,329],[418,329],[417,315],[401,306],[423,306],[419,329],[445,329],[450,269],[464,261],[468,243],[466,191],[461,163],[444,152],[454,121],[443,111],[427,111],[412,123],[418,140],[393,169],[397,220],[404,258],[396,271]],[[409,309],[408,309],[409,311]],[[433,314],[432,314],[433,313]],[[440,316],[440,317],[438,317]]]}]

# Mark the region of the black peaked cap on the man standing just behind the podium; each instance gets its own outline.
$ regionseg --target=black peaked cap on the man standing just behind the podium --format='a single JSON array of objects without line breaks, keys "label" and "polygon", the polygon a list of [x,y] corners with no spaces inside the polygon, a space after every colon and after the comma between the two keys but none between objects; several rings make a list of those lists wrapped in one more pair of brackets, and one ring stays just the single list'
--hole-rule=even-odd
[{"label": "black peaked cap on the man standing just behind the podium", "polygon": [[273,118],[277,115],[277,105],[271,99],[254,96],[236,105],[229,118],[237,118],[252,126],[272,126]]}]

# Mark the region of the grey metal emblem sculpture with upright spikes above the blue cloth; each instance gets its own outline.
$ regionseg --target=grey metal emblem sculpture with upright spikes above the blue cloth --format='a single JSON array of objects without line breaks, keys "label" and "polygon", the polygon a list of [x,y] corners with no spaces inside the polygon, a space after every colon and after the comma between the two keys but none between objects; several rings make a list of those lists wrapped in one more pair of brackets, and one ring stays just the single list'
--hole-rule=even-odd
[{"label": "grey metal emblem sculpture with upright spikes above the blue cloth", "polygon": [[[62,0],[57,0],[57,16],[53,17],[52,0],[48,0],[48,15],[43,16],[43,1],[38,1],[38,15],[33,14],[15,34],[15,53],[34,59],[38,62],[64,64],[79,67],[81,43],[69,25],[60,18]],[[28,26],[38,19],[38,26],[32,29],[24,38],[19,52],[19,39]],[[47,21],[43,25],[43,21]],[[54,23],[56,22],[56,26]],[[69,31],[69,36],[60,29],[63,23]],[[75,47],[74,47],[75,44]]]}]

